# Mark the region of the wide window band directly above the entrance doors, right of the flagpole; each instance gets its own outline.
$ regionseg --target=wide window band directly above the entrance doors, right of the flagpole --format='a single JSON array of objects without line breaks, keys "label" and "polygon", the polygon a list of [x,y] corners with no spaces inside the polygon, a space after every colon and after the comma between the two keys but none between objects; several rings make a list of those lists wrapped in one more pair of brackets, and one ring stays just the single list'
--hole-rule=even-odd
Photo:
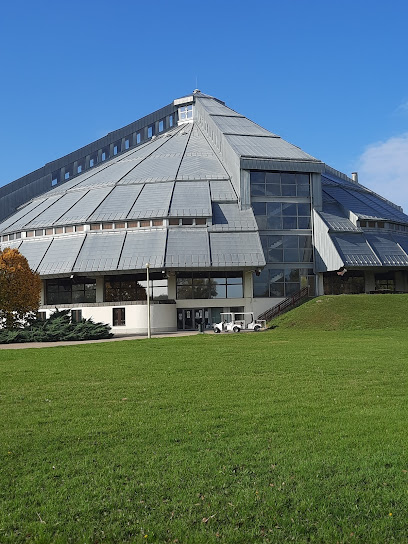
[{"label": "wide window band directly above the entrance doors, right of the flagpole", "polygon": [[179,272],[178,299],[241,298],[242,272]]}]

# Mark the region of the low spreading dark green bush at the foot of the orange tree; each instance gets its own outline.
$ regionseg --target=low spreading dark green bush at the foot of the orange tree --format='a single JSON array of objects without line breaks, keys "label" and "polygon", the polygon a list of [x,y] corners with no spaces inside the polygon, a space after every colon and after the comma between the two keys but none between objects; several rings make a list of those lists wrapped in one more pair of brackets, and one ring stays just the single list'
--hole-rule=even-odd
[{"label": "low spreading dark green bush at the foot of the orange tree", "polygon": [[56,309],[46,321],[35,319],[21,329],[1,329],[0,344],[100,340],[111,338],[110,330],[109,325],[95,323],[92,319],[72,323],[71,310]]}]

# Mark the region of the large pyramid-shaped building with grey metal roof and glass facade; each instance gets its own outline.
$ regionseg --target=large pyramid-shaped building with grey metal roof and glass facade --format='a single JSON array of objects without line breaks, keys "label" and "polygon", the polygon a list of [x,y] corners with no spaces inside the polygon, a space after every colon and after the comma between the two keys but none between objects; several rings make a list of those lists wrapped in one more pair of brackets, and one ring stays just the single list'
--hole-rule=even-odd
[{"label": "large pyramid-shaped building with grey metal roof and glass facade", "polygon": [[0,189],[56,306],[115,332],[194,329],[311,294],[408,291],[408,216],[196,90]]}]

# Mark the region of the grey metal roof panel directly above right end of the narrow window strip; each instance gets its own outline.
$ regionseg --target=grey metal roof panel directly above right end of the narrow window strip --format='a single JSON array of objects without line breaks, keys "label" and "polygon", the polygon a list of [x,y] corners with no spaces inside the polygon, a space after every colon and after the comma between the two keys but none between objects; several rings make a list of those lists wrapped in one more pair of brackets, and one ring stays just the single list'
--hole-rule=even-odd
[{"label": "grey metal roof panel directly above right end of the narrow window strip", "polygon": [[169,215],[210,217],[211,198],[208,181],[176,181]]}]

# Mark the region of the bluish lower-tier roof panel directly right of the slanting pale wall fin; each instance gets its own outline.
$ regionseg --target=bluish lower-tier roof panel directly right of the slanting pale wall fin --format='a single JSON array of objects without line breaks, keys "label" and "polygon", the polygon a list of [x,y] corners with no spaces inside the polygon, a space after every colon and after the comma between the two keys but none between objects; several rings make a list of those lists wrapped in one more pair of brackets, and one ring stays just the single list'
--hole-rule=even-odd
[{"label": "bluish lower-tier roof panel directly right of the slanting pale wall fin", "polygon": [[330,238],[346,266],[381,266],[363,234],[330,234]]}]

